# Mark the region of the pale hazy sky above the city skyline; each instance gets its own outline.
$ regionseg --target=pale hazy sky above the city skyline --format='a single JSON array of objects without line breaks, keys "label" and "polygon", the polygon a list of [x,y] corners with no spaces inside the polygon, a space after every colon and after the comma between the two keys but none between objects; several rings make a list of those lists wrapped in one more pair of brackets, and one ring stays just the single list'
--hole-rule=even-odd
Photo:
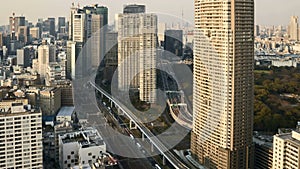
[{"label": "pale hazy sky above the city skyline", "polygon": [[[68,18],[72,2],[81,6],[100,4],[109,8],[109,20],[122,12],[124,4],[145,4],[148,12],[175,15],[193,22],[194,0],[8,0],[0,6],[0,25],[8,24],[13,12],[24,15],[36,23],[37,18],[66,16]],[[256,22],[261,25],[286,25],[291,15],[300,16],[300,0],[256,0]]]}]

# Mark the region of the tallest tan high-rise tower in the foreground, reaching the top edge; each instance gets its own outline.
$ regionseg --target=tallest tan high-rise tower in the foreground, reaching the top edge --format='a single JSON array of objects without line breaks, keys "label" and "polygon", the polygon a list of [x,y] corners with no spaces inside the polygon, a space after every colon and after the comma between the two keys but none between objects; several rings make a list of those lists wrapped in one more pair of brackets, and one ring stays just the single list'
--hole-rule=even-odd
[{"label": "tallest tan high-rise tower in the foreground, reaching the top edge", "polygon": [[208,168],[252,168],[254,0],[196,0],[191,151]]}]

